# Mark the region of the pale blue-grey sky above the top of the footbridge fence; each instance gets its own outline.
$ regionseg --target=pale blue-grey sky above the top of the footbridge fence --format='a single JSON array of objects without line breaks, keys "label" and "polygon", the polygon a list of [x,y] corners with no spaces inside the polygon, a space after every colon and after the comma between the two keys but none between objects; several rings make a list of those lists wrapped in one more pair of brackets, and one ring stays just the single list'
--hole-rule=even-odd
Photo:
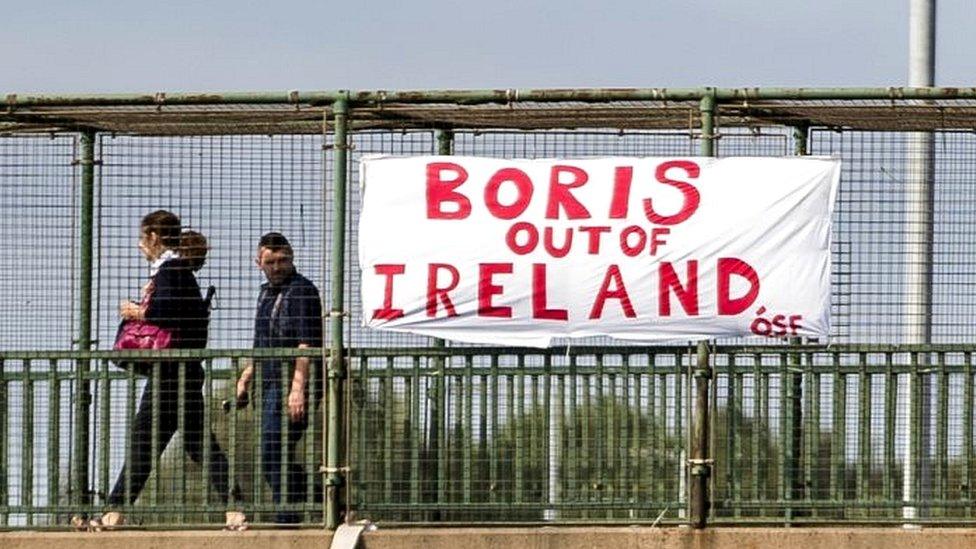
[{"label": "pale blue-grey sky above the top of the footbridge fence", "polygon": [[[908,1],[15,3],[0,93],[903,85]],[[976,85],[976,2],[938,9]]]}]

